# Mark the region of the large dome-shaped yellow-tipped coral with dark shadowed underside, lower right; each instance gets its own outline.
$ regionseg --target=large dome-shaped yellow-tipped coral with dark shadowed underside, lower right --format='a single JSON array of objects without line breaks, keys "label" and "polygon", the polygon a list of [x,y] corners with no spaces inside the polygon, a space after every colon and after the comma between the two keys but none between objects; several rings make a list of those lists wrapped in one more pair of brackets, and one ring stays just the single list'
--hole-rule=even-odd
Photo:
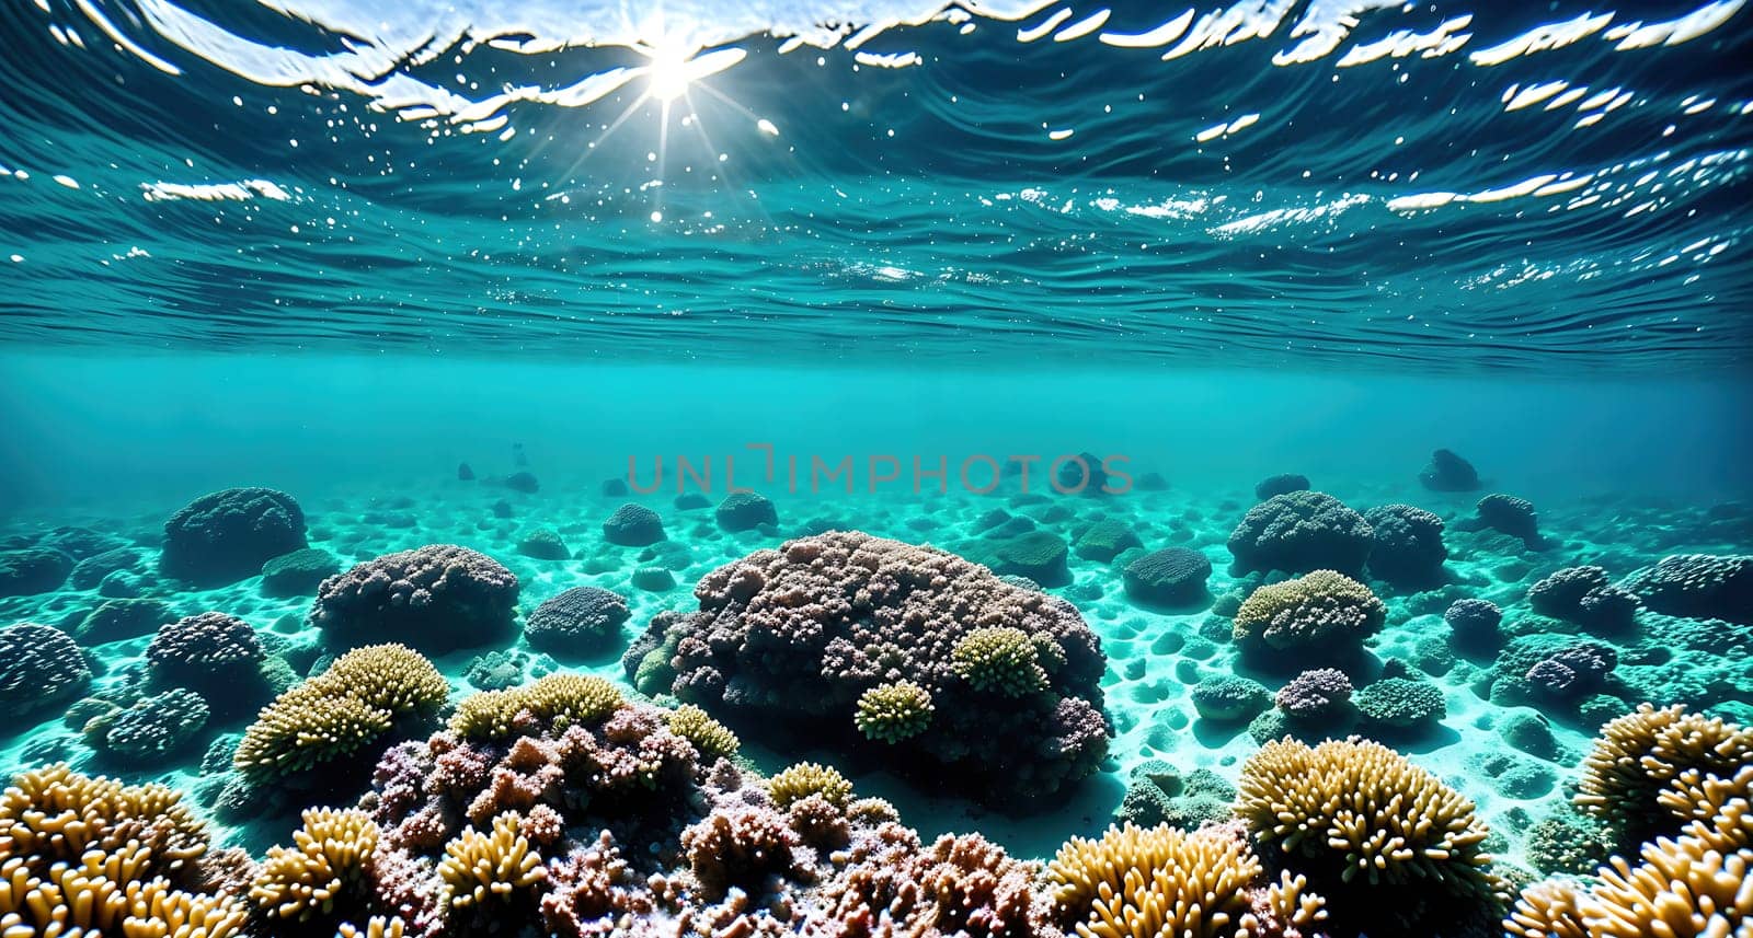
[{"label": "large dome-shaped yellow-tipped coral with dark shadowed underside, lower right", "polygon": [[[1502,910],[1508,887],[1473,802],[1381,744],[1269,742],[1243,765],[1238,789],[1236,814],[1260,850],[1306,875],[1343,928],[1448,934],[1451,922],[1462,934]],[[1394,901],[1371,901],[1374,891]]]}]

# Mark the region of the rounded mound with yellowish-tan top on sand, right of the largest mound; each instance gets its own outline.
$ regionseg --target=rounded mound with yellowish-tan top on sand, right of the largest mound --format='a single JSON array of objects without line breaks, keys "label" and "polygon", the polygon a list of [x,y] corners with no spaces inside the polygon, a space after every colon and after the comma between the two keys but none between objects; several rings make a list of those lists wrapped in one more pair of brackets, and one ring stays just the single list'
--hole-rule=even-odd
[{"label": "rounded mound with yellowish-tan top on sand, right of the largest mound", "polygon": [[1255,653],[1345,658],[1381,630],[1388,607],[1334,570],[1260,586],[1236,611],[1232,639]]}]

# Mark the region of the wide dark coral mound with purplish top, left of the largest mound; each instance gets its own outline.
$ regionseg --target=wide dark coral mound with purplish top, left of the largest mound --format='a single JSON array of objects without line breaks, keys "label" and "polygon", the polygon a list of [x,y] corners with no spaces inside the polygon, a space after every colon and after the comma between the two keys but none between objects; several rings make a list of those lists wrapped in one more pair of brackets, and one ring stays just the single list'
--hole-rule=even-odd
[{"label": "wide dark coral mound with purplish top, left of the largest mound", "polygon": [[510,640],[515,607],[517,576],[498,560],[429,544],[324,579],[310,623],[340,648],[403,642],[444,653]]}]

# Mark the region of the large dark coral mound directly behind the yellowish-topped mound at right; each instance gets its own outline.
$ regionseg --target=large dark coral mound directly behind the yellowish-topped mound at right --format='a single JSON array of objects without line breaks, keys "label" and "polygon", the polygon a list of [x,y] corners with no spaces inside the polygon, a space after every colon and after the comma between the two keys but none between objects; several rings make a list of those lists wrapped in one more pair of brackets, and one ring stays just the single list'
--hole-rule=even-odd
[{"label": "large dark coral mound directly behind the yellowish-topped mound at right", "polygon": [[1236,572],[1339,570],[1359,576],[1374,528],[1362,514],[1325,492],[1287,492],[1248,509],[1229,536]]}]

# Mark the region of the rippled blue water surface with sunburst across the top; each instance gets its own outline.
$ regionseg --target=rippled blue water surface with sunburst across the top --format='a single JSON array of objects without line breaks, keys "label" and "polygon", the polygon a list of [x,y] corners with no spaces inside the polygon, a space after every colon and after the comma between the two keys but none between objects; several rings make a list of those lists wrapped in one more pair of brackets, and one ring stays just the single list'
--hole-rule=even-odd
[{"label": "rippled blue water surface with sunburst across the top", "polygon": [[0,10],[9,345],[1544,374],[1753,348],[1741,0]]}]

